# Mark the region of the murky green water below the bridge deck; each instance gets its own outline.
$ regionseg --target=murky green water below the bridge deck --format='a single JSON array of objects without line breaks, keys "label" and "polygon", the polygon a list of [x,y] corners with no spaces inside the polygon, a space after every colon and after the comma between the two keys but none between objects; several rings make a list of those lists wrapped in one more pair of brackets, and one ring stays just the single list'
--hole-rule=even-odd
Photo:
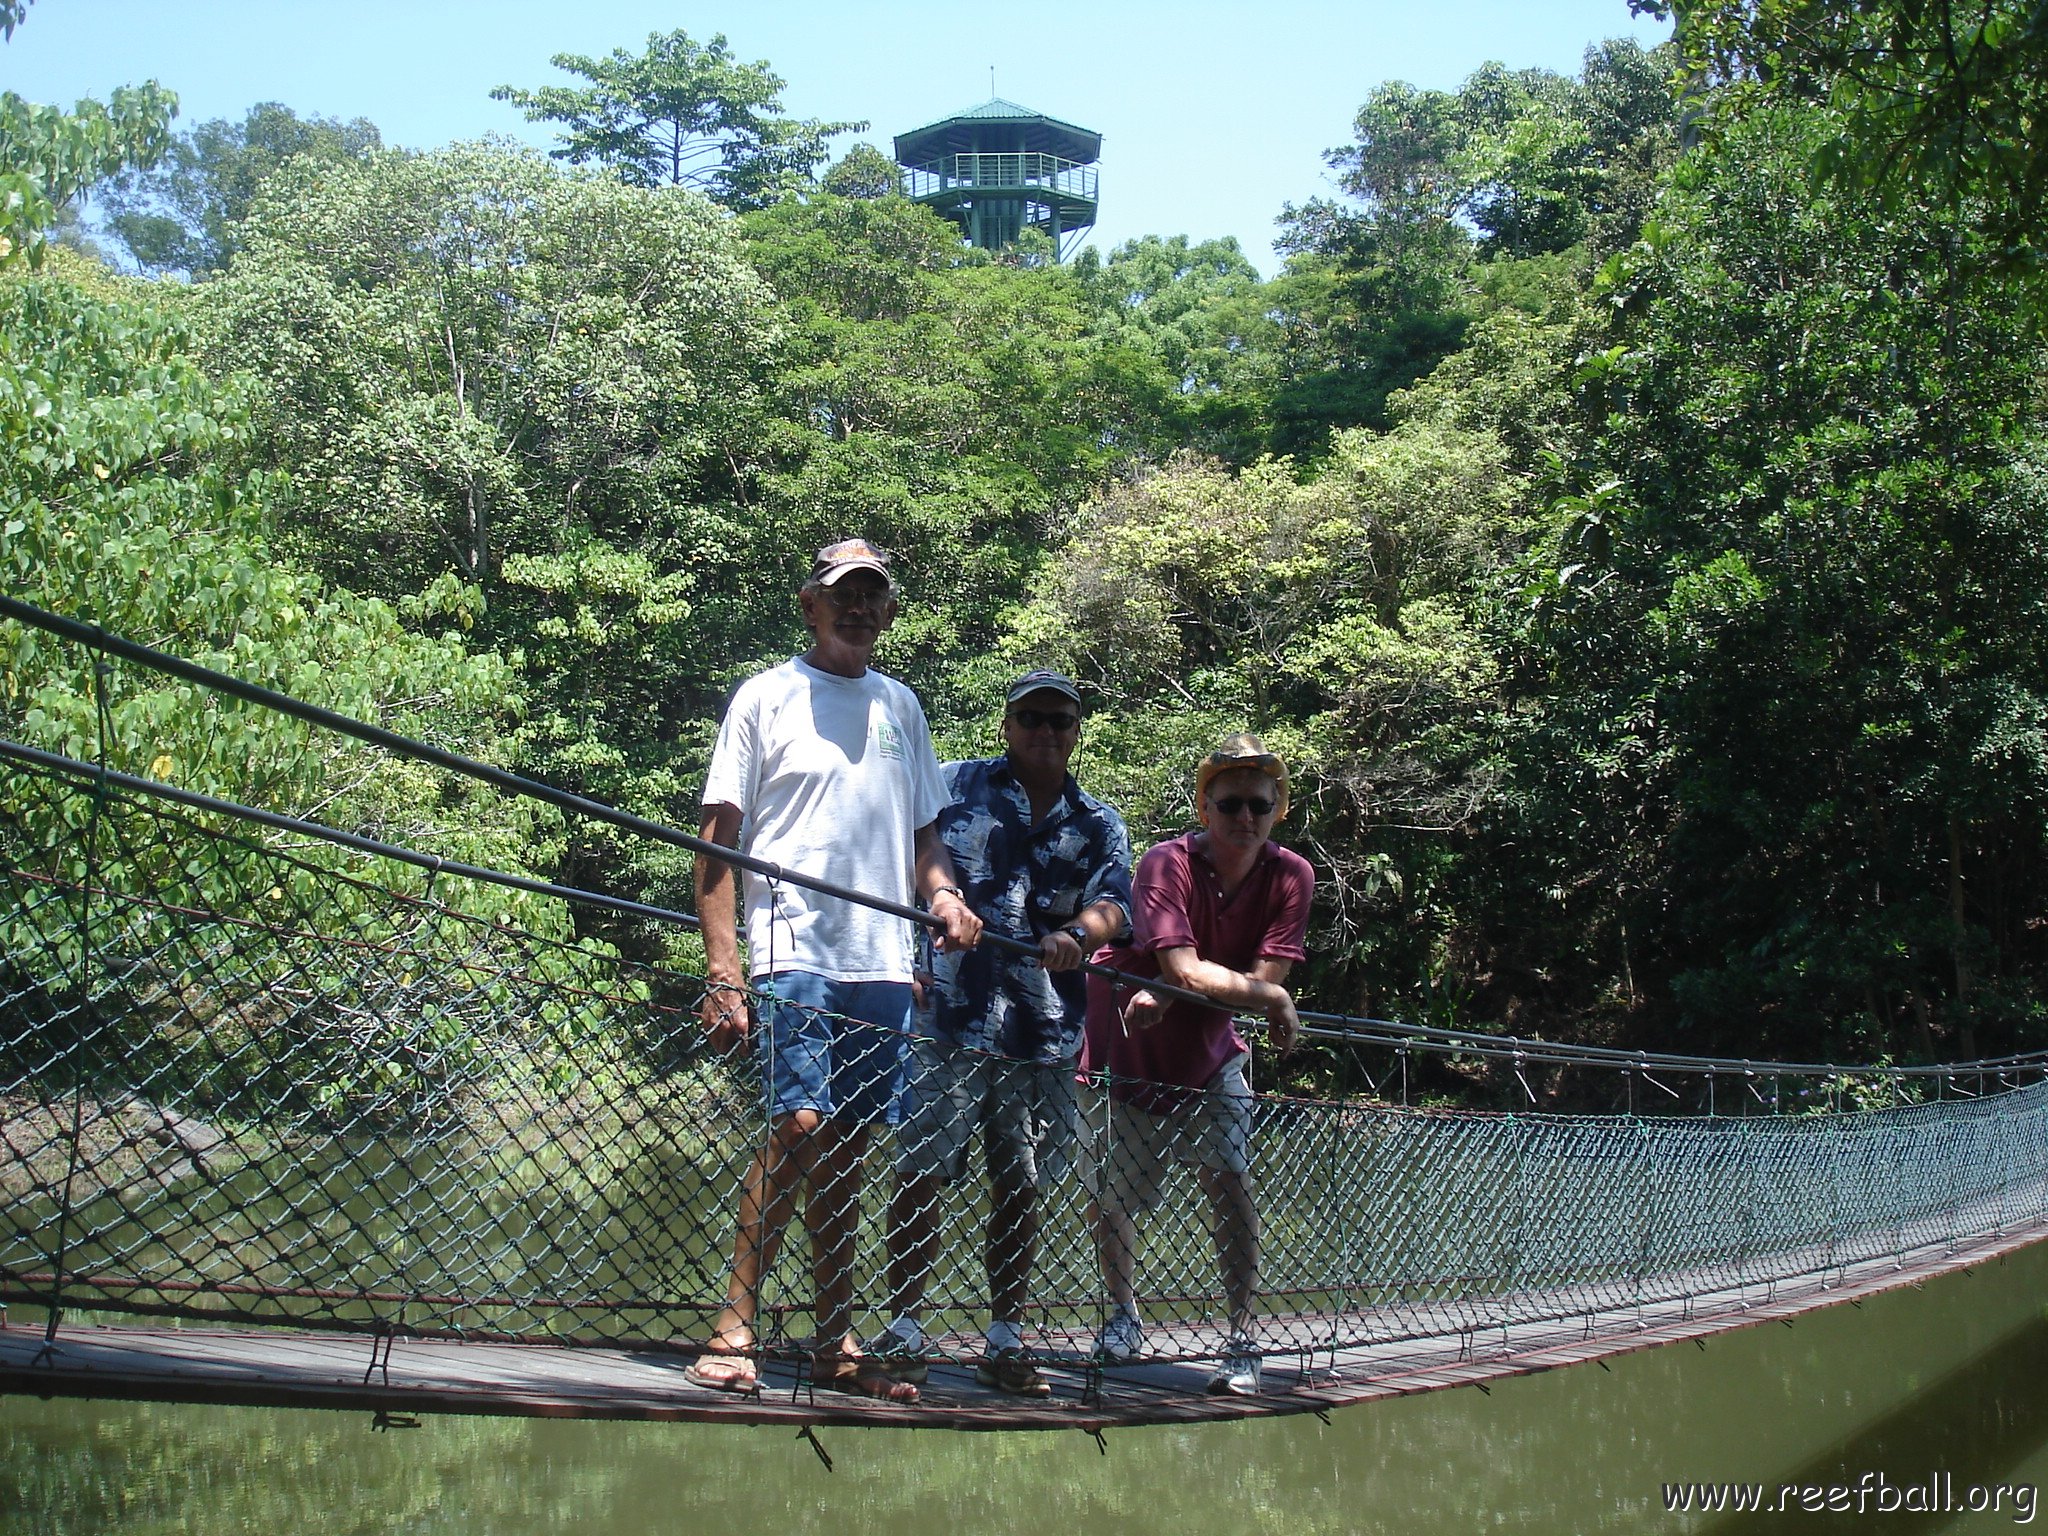
[{"label": "murky green water below the bridge deck", "polygon": [[[0,1399],[0,1536],[193,1532],[2003,1530],[2005,1513],[1669,1516],[1665,1483],[2048,1483],[2048,1245],[1923,1290],[1313,1417],[954,1436]],[[1845,1497],[1853,1497],[1845,1495]],[[2048,1524],[2040,1518],[2034,1524]]]}]

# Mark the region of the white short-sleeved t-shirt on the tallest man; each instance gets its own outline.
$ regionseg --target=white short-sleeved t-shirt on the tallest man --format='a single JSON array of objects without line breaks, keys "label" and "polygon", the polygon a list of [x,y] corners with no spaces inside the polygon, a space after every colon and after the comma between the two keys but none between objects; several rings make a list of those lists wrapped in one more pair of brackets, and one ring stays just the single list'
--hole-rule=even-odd
[{"label": "white short-sleeved t-shirt on the tallest man", "polygon": [[[909,905],[915,834],[946,805],[918,694],[791,657],[739,684],[711,752],[705,805],[741,813],[739,852]],[[748,973],[909,981],[911,924],[858,901],[745,874]]]}]

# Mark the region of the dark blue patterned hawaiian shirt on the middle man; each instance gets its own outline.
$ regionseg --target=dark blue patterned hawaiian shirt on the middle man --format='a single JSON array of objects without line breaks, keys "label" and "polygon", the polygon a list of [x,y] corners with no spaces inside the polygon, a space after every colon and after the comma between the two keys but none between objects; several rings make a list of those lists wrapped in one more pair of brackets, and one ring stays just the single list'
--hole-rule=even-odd
[{"label": "dark blue patterned hawaiian shirt on the middle man", "polygon": [[[1036,825],[1008,758],[948,762],[944,774],[952,805],[938,813],[938,836],[987,932],[1036,944],[1104,899],[1130,924],[1130,834],[1073,774]],[[924,1028],[938,1038],[1018,1061],[1071,1061],[1081,1049],[1081,971],[1053,973],[983,944],[934,954],[932,973]]]}]

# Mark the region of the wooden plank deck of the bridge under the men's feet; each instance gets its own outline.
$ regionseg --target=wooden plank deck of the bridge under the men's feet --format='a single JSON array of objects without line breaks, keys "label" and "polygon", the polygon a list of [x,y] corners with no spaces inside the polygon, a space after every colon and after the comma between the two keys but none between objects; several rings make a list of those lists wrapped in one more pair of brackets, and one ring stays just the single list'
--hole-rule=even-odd
[{"label": "wooden plank deck of the bridge under the men's feet", "polygon": [[[688,1356],[674,1350],[125,1325],[61,1327],[45,1348],[43,1329],[20,1321],[0,1325],[0,1393],[389,1415],[1102,1432],[1323,1413],[1376,1397],[1485,1386],[1505,1376],[1792,1321],[1819,1307],[1995,1262],[2042,1237],[2048,1225],[2030,1223],[1954,1247],[1937,1243],[1790,1282],[1722,1286],[1669,1303],[1614,1305],[1612,1294],[1595,1290],[1554,1292],[1542,1300],[1544,1317],[1524,1311],[1520,1321],[1485,1321],[1473,1305],[1389,1309],[1384,1329],[1403,1337],[1333,1352],[1272,1354],[1266,1393],[1255,1399],[1208,1397],[1208,1368],[1200,1362],[1096,1370],[1079,1360],[1055,1360],[1047,1368],[1055,1391],[1042,1403],[979,1386],[971,1366],[934,1366],[922,1399],[905,1407],[813,1389],[797,1362],[782,1360],[768,1362],[760,1397],[735,1397],[686,1382]],[[1370,1329],[1380,1317],[1364,1313],[1352,1321]],[[1180,1354],[1214,1348],[1202,1337],[1194,1329],[1155,1329],[1149,1343]],[[975,1348],[967,1339],[954,1343]]]}]

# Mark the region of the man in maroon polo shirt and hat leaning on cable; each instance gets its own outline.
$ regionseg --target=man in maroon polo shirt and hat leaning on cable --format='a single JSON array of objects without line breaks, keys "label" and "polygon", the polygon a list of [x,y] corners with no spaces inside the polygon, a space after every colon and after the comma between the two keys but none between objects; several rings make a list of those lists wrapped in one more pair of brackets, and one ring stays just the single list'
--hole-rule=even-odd
[{"label": "man in maroon polo shirt and hat leaning on cable", "polygon": [[1153,848],[1133,881],[1130,946],[1096,961],[1202,993],[1210,1008],[1149,989],[1087,979],[1087,1055],[1110,1073],[1108,1155],[1098,1188],[1096,1241],[1110,1290],[1098,1356],[1122,1362],[1143,1348],[1133,1270],[1137,1214],[1159,1204],[1167,1163],[1194,1163],[1214,1212],[1217,1257],[1231,1309],[1212,1393],[1260,1391],[1253,1298],[1260,1286],[1260,1212],[1251,1202],[1251,1085],[1233,1012],[1266,1016],[1288,1051],[1300,1020],[1282,985],[1309,950],[1309,860],[1272,842],[1286,815],[1286,764],[1255,735],[1231,735],[1194,776],[1202,821]]}]

